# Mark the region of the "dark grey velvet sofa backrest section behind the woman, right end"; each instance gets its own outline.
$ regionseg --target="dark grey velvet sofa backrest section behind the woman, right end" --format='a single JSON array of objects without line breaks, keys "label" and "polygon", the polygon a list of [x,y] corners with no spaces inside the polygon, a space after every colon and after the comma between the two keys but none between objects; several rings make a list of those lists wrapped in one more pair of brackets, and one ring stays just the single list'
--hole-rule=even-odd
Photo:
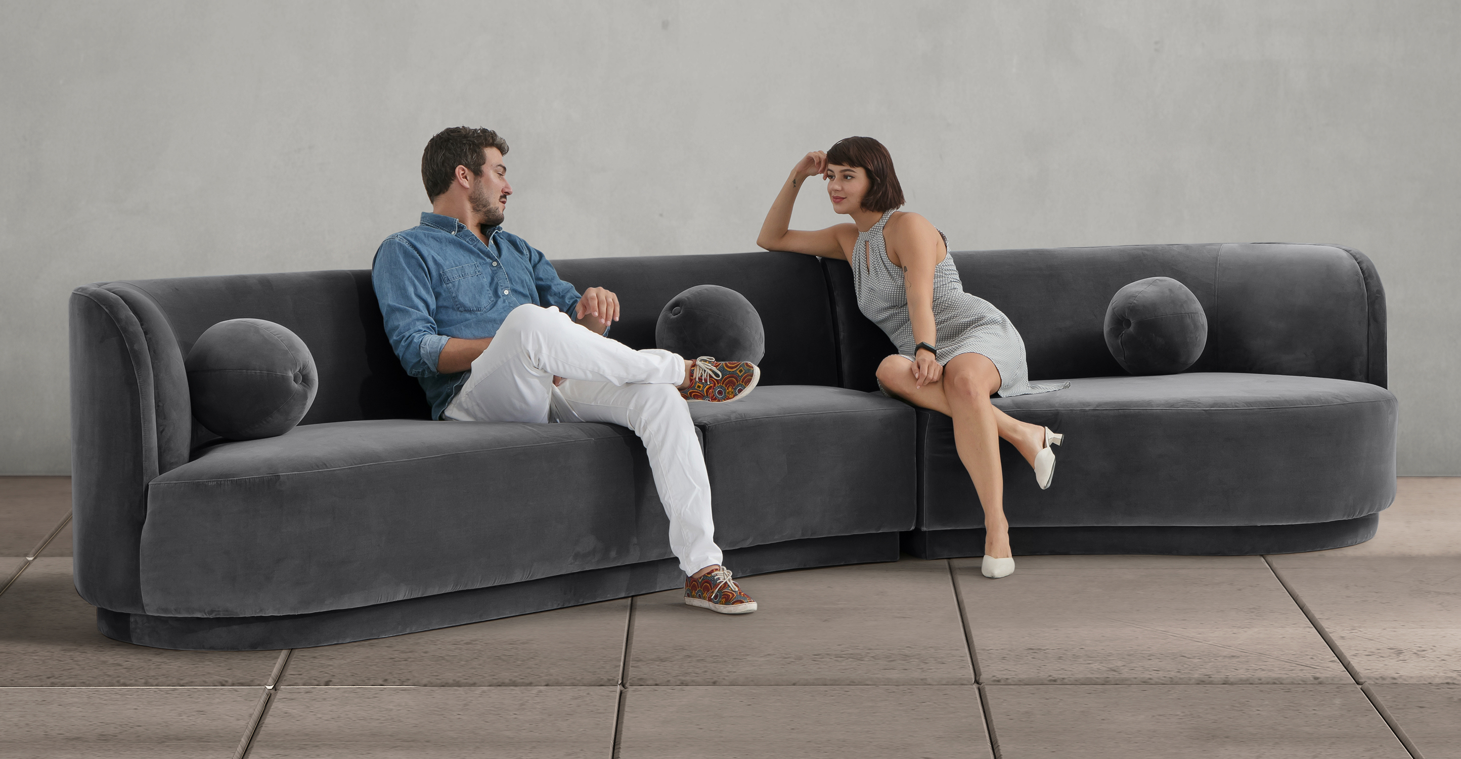
[{"label": "dark grey velvet sofa backrest section behind the woman, right end", "polygon": [[[1246,371],[1385,386],[1385,291],[1369,257],[1306,244],[1121,246],[954,252],[964,291],[1010,316],[1030,379],[1121,376],[1102,333],[1122,285],[1170,276],[1208,320],[1188,371]],[[858,311],[852,271],[827,260],[843,386],[871,390],[893,344]]]}]

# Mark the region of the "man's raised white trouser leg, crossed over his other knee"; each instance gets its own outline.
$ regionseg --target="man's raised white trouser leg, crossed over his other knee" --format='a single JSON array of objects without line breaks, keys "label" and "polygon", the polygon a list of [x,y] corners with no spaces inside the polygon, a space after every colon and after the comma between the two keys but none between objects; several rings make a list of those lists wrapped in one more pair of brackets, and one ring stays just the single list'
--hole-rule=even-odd
[{"label": "man's raised white trouser leg, crossed over his other knee", "polygon": [[[472,361],[472,374],[443,414],[457,421],[548,421],[554,374],[573,380],[669,383],[685,361],[668,351],[636,351],[573,323],[557,307],[519,306]],[[676,392],[678,395],[678,392]]]}]

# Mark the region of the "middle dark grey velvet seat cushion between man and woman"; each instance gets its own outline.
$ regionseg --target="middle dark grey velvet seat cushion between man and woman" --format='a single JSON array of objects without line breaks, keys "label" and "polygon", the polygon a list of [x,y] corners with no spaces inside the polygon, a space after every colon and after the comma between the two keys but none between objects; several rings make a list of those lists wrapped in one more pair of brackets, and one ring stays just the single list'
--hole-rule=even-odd
[{"label": "middle dark grey velvet seat cushion between man and woman", "polygon": [[773,385],[726,404],[690,404],[690,414],[722,548],[913,526],[915,415],[906,404]]}]

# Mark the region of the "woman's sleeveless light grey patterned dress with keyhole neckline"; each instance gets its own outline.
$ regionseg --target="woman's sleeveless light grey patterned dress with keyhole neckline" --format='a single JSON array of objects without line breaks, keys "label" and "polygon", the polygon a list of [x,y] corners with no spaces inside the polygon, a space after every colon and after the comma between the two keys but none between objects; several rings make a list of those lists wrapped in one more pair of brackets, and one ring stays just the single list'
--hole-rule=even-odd
[{"label": "woman's sleeveless light grey patterned dress with keyhole neckline", "polygon": [[[858,309],[887,332],[900,355],[912,360],[916,341],[913,322],[909,319],[907,285],[903,282],[903,269],[888,260],[887,243],[882,240],[882,227],[890,216],[893,211],[882,214],[871,230],[858,235],[849,263],[858,290]],[[948,237],[942,231],[938,234],[944,237],[947,249]],[[948,364],[950,358],[964,352],[988,357],[999,370],[999,395],[1004,398],[1071,386],[1069,382],[1029,380],[1020,332],[992,303],[964,292],[954,257],[948,254],[934,268],[934,323],[938,325],[938,363]]]}]

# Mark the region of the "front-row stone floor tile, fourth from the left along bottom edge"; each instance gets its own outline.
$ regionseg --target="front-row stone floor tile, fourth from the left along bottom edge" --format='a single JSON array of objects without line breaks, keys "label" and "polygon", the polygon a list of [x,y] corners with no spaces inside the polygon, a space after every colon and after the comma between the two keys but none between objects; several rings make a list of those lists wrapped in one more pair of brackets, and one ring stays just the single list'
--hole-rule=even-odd
[{"label": "front-row stone floor tile, fourth from the left along bottom edge", "polygon": [[985,690],[1004,759],[1410,759],[1354,684]]}]

